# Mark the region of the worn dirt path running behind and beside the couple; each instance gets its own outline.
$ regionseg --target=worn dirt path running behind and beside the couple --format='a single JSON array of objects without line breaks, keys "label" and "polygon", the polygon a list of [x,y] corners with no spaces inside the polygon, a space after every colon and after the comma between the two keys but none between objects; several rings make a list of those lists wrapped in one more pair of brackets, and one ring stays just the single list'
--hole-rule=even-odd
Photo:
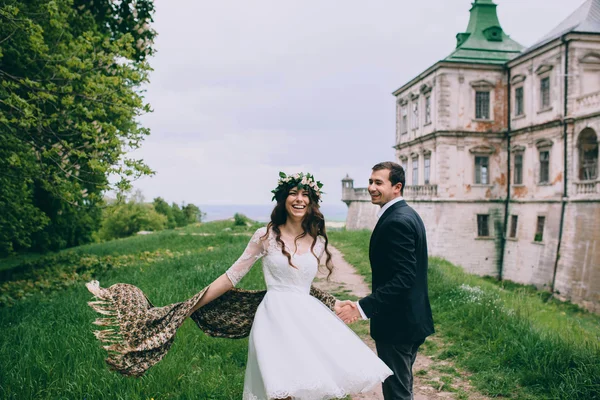
[{"label": "worn dirt path running behind and beside the couple", "polygon": [[[369,286],[365,283],[355,268],[344,260],[342,253],[336,248],[329,246],[333,256],[335,270],[331,279],[325,280],[327,271],[320,271],[315,281],[315,286],[327,290],[340,299],[360,298],[371,293]],[[375,351],[375,343],[368,334],[368,323],[359,322],[360,326],[354,327],[365,343]],[[433,348],[438,347],[439,340],[433,336],[427,339],[434,343]],[[430,353],[430,351],[427,351]],[[425,355],[425,351],[419,350],[417,360],[413,367],[415,400],[439,400],[439,399],[473,399],[484,400],[487,397],[475,392],[465,379],[465,373],[459,372],[451,363],[436,359],[435,355]],[[353,396],[352,400],[382,400],[381,386],[361,395]]]}]

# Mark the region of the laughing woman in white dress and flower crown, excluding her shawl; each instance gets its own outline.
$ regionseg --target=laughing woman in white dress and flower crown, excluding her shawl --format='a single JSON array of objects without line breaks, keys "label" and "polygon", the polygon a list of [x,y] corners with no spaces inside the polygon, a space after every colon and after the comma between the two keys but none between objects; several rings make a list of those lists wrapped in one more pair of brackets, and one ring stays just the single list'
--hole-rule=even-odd
[{"label": "laughing woman in white dress and flower crown, excluding her shawl", "polygon": [[[392,371],[344,322],[309,295],[321,256],[331,275],[321,183],[281,175],[266,228],[217,278],[193,311],[232,289],[263,258],[267,293],[250,331],[244,400],[330,399],[366,391]],[[336,301],[336,307],[341,302]]]}]

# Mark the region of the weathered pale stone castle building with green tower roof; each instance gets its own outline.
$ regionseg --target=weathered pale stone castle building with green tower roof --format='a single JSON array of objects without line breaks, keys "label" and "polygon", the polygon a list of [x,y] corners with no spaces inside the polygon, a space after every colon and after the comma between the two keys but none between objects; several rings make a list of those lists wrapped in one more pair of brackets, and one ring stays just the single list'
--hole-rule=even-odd
[{"label": "weathered pale stone castle building with green tower roof", "polygon": [[[600,311],[600,0],[530,48],[475,0],[456,49],[393,94],[404,197],[431,255]],[[348,229],[372,229],[342,180]]]}]

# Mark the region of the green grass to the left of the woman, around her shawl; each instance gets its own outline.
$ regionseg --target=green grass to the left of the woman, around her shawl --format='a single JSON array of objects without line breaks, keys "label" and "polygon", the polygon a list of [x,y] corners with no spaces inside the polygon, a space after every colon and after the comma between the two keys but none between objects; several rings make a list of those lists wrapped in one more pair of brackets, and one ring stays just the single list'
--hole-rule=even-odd
[{"label": "green grass to the left of the woman, around her shawl", "polygon": [[[94,276],[103,286],[134,284],[155,305],[165,305],[195,294],[243,252],[254,228],[223,231],[231,225],[204,224],[70,251],[105,256],[171,250],[175,253],[172,257],[152,262],[133,257],[127,265]],[[258,265],[241,287],[264,288]],[[247,339],[210,338],[188,321],[178,331],[167,356],[146,376],[125,378],[104,364],[105,351],[92,335],[95,327],[91,322],[97,315],[87,306],[89,300],[91,295],[80,282],[64,290],[35,293],[12,307],[0,308],[0,398],[241,398]]]}]

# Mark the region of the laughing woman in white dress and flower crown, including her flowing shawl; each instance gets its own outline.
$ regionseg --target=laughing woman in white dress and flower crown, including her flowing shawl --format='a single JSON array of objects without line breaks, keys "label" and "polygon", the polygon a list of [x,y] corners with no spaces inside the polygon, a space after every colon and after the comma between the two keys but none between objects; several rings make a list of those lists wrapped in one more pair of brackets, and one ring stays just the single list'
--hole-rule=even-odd
[{"label": "laughing woman in white dress and flower crown, including her flowing shawl", "polygon": [[[320,182],[311,174],[280,174],[271,222],[258,229],[241,257],[192,298],[155,307],[137,287],[87,283],[88,304],[103,314],[94,324],[106,343],[109,366],[142,376],[170,349],[177,329],[191,317],[214,337],[249,337],[244,400],[343,398],[365,392],[392,371],[338,318],[347,303],[313,287],[319,260],[333,269]],[[235,286],[263,259],[267,291]]]}]

